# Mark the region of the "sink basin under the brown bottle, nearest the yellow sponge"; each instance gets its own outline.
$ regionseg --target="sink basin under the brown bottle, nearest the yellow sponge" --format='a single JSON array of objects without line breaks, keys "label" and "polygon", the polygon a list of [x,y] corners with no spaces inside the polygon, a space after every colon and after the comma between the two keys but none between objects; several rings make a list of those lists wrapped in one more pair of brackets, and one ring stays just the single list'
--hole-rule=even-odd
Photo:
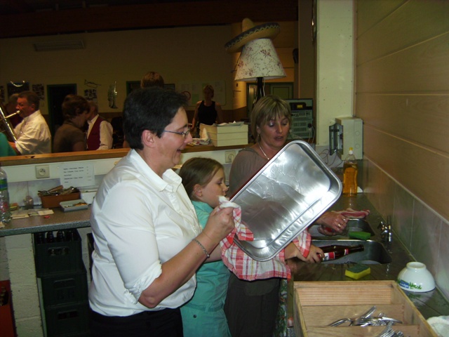
[{"label": "sink basin under the brown bottle, nearest the yellow sponge", "polygon": [[330,260],[323,263],[361,263],[364,265],[379,265],[385,263],[391,263],[391,256],[389,255],[387,249],[384,245],[377,241],[372,240],[312,240],[312,244],[315,246],[330,246],[330,245],[342,245],[342,246],[357,246],[358,244],[363,244],[364,251],[358,251],[356,253],[351,253],[342,258],[337,258],[337,260]]}]

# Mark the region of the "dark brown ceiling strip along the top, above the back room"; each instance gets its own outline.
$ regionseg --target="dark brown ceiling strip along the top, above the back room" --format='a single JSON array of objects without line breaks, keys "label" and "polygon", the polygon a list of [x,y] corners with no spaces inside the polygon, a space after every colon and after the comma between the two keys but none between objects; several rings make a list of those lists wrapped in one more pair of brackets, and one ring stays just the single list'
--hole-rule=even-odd
[{"label": "dark brown ceiling strip along the top, above the back room", "polygon": [[[213,15],[205,15],[204,11]],[[260,22],[296,21],[297,0],[178,1],[0,15],[0,18],[0,38],[114,29],[224,25],[241,22],[243,18]]]}]

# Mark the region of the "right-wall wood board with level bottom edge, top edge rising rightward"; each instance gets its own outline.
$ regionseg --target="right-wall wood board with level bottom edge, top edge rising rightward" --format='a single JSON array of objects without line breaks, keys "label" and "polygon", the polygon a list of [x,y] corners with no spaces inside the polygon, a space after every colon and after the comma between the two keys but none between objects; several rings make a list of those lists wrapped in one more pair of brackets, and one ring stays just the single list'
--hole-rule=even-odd
[{"label": "right-wall wood board with level bottom edge, top edge rising rightward", "polygon": [[432,93],[449,89],[449,32],[434,39],[358,64],[357,92]]}]

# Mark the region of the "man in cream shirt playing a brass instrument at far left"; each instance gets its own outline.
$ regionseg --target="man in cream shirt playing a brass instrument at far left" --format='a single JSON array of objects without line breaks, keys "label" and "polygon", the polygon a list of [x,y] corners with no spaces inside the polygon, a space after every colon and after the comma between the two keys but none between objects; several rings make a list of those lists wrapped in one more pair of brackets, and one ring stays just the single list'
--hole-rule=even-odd
[{"label": "man in cream shirt playing a brass instrument at far left", "polygon": [[15,126],[17,142],[9,142],[18,154],[51,153],[51,133],[39,110],[39,96],[33,91],[22,91],[18,95],[16,109],[22,121]]}]

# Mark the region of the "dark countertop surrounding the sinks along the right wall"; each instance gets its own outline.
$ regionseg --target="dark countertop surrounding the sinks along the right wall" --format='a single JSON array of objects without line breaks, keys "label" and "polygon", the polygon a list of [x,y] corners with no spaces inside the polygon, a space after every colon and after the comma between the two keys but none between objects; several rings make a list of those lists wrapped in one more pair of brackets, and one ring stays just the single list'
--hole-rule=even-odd
[{"label": "dark countertop surrounding the sinks along the right wall", "polygon": [[[369,209],[370,214],[366,220],[370,223],[371,228],[375,232],[375,235],[371,237],[373,241],[382,242],[380,237],[380,230],[377,229],[377,225],[383,220],[382,216],[374,209],[370,204],[367,197],[364,194],[358,194],[356,197],[340,197],[337,202],[331,207],[331,209],[337,211],[342,209],[362,210]],[[334,239],[333,237],[327,237],[328,239]],[[342,238],[342,237],[340,237]],[[347,238],[347,237],[346,237]],[[346,239],[345,238],[345,239]],[[326,239],[326,237],[316,237],[312,239]],[[406,248],[399,242],[396,235],[393,233],[393,240],[389,243],[382,242],[389,252],[392,262],[387,264],[374,264],[370,265],[371,273],[361,279],[354,280],[344,275],[344,271],[347,270],[351,263],[340,264],[306,264],[300,260],[289,261],[289,265],[292,269],[293,279],[295,281],[368,281],[368,280],[396,280],[399,272],[406,266],[406,264],[413,259],[408,253]],[[435,289],[427,293],[414,293],[410,291],[404,291],[408,298],[413,301],[418,310],[422,313],[424,318],[434,316],[446,316],[449,315],[449,303],[445,300],[442,293]]]}]

